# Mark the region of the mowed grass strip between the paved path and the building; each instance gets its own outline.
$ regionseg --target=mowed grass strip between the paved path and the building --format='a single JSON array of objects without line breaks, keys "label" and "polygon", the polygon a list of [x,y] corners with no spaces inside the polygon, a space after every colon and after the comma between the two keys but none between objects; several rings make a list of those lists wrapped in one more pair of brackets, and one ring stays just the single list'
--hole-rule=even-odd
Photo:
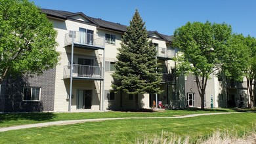
[{"label": "mowed grass strip between the paved path and the building", "polygon": [[58,120],[79,120],[89,118],[117,118],[117,117],[175,117],[196,113],[232,112],[232,109],[186,109],[167,110],[161,112],[98,112],[98,113],[5,113],[0,114],[0,128],[21,124],[35,124]]}]

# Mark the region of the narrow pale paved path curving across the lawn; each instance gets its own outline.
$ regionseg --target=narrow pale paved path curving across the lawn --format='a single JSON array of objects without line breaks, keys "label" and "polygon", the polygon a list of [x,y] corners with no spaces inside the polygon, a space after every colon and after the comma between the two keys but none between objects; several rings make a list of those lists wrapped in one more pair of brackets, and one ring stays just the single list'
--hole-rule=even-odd
[{"label": "narrow pale paved path curving across the lawn", "polygon": [[[240,112],[233,112],[240,113]],[[96,118],[96,119],[83,119],[83,120],[61,120],[56,122],[43,122],[37,124],[24,124],[20,126],[11,126],[7,128],[0,128],[0,132],[6,132],[9,130],[20,130],[24,128],[37,128],[44,126],[58,126],[58,125],[68,125],[68,124],[77,124],[83,122],[98,122],[104,120],[123,120],[123,119],[160,119],[160,118],[189,118],[189,117],[198,117],[203,115],[224,115],[224,114],[232,114],[232,113],[201,113],[201,114],[193,114],[193,115],[184,115],[179,117],[125,117],[125,118]]]}]

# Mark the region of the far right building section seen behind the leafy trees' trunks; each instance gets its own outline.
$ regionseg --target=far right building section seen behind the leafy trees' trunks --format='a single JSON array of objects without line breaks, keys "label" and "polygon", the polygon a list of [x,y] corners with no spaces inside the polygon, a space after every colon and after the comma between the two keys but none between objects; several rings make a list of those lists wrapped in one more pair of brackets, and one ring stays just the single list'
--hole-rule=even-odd
[{"label": "far right building section seen behind the leafy trees' trunks", "polygon": [[[247,107],[249,96],[247,81],[227,79],[224,75],[210,75],[205,89],[205,107]],[[194,75],[188,75],[184,79],[186,93],[186,107],[201,107],[201,97],[196,85]]]}]

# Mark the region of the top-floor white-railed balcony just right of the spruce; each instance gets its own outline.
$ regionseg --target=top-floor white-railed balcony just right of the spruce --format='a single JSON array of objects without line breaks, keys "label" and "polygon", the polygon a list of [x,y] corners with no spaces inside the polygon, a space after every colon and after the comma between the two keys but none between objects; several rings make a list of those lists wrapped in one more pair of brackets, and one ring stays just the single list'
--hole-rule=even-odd
[{"label": "top-floor white-railed balcony just right of the spruce", "polygon": [[156,47],[156,56],[160,60],[171,60],[175,58],[175,50],[171,48]]}]

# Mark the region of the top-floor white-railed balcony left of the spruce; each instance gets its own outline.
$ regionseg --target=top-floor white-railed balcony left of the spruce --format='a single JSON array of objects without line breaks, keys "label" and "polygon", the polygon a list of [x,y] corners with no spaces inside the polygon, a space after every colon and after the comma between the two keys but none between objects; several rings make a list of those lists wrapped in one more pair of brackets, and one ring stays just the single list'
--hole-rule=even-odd
[{"label": "top-floor white-railed balcony left of the spruce", "polygon": [[[72,45],[72,31],[65,35],[65,46]],[[105,37],[93,35],[82,31],[74,31],[74,46],[78,48],[87,48],[90,50],[104,49]]]}]

